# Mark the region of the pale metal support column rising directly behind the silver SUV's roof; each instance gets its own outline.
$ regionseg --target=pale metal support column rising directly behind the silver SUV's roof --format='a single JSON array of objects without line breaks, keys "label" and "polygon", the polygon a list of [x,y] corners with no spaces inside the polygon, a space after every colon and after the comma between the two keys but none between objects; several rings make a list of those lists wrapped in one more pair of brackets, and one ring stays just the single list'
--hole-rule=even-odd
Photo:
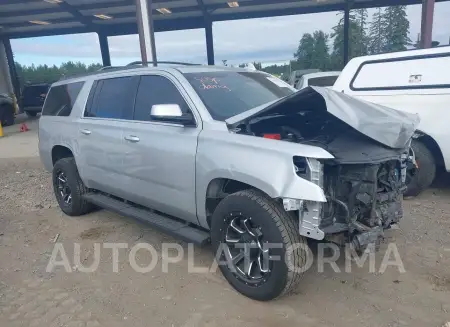
[{"label": "pale metal support column rising directly behind the silver SUV's roof", "polygon": [[[141,47],[142,63],[147,65],[149,61],[153,66],[157,65],[155,30],[153,28],[152,0],[136,0],[136,15],[139,30],[139,44]],[[151,56],[148,60],[148,56]]]}]

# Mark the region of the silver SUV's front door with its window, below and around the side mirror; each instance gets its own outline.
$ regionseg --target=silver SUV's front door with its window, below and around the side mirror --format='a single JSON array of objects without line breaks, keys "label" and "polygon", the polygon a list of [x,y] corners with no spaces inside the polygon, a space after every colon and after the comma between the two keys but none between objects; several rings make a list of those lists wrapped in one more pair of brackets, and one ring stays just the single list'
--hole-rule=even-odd
[{"label": "silver SUV's front door with its window, below and around the side mirror", "polygon": [[[187,93],[170,78],[141,76],[133,122],[123,130],[125,186],[129,200],[197,223],[195,155],[201,121]],[[152,121],[150,110],[157,104],[178,104],[184,113],[192,112],[196,126]]]}]

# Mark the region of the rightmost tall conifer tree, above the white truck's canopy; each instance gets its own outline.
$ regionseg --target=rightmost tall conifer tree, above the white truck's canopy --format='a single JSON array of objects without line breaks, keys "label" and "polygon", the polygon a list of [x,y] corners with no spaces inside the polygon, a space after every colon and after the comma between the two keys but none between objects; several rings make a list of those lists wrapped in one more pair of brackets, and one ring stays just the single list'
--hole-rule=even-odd
[{"label": "rightmost tall conifer tree, above the white truck's canopy", "polygon": [[411,44],[406,6],[387,7],[382,14],[386,44],[383,52],[404,51]]}]

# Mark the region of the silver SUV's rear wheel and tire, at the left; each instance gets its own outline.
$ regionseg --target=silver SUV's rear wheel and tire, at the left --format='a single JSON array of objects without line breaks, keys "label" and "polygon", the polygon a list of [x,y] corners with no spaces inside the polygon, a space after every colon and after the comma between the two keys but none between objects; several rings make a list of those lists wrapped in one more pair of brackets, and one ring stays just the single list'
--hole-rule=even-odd
[{"label": "silver SUV's rear wheel and tire, at the left", "polygon": [[53,166],[53,191],[66,215],[81,216],[93,209],[93,205],[83,199],[89,189],[81,180],[73,157],[60,159]]}]

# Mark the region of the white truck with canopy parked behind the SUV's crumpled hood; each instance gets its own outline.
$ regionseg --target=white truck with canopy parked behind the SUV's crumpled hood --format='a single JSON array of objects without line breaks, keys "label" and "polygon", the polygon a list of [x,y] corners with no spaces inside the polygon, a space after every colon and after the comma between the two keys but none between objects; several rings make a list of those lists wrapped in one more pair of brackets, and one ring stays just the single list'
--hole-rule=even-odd
[{"label": "white truck with canopy parked behind the SUV's crumpled hood", "polygon": [[429,187],[437,168],[450,171],[450,47],[354,58],[333,89],[420,115],[407,195]]}]

